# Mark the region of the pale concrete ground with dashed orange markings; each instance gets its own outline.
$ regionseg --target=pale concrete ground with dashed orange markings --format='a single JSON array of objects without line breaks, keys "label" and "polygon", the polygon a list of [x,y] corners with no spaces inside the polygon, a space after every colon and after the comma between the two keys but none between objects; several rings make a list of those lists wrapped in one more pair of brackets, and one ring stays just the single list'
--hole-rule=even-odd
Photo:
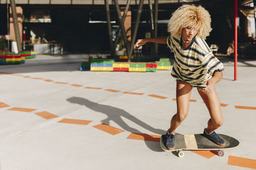
[{"label": "pale concrete ground with dashed orange markings", "polygon": [[[176,112],[175,80],[156,73],[79,71],[83,55],[37,55],[0,66],[0,169],[256,169],[256,60],[223,60],[216,85],[224,124],[241,143],[218,157],[163,152]],[[209,113],[193,89],[180,134],[202,133]]]}]

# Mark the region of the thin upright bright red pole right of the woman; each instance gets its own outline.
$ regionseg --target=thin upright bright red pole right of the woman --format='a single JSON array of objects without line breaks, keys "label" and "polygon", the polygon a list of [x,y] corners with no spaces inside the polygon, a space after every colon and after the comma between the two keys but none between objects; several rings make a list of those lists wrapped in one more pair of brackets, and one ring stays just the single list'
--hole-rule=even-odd
[{"label": "thin upright bright red pole right of the woman", "polygon": [[237,80],[237,0],[235,0],[234,81]]}]

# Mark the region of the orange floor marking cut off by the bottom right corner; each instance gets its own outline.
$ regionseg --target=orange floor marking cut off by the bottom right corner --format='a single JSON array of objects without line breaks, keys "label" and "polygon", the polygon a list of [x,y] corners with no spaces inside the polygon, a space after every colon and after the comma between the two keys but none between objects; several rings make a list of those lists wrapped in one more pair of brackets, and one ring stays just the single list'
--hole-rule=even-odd
[{"label": "orange floor marking cut off by the bottom right corner", "polygon": [[256,169],[255,159],[246,159],[241,157],[228,156],[228,165],[248,167],[251,169]]}]

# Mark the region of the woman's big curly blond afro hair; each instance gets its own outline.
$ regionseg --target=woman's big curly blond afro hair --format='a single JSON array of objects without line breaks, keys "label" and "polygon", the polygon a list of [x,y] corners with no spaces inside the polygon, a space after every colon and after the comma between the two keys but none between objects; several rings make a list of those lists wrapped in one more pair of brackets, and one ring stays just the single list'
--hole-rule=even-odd
[{"label": "woman's big curly blond afro hair", "polygon": [[181,36],[182,28],[195,24],[196,36],[205,39],[212,31],[211,15],[202,6],[185,4],[180,6],[168,22],[168,32],[173,36]]}]

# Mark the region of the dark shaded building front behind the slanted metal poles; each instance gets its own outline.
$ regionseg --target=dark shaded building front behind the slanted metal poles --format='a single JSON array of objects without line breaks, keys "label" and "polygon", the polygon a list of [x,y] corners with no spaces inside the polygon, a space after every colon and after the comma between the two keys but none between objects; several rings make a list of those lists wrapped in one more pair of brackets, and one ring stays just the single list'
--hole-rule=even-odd
[{"label": "dark shaded building front behind the slanted metal poles", "polygon": [[[95,53],[109,52],[109,35],[106,7],[102,0],[16,0],[16,9],[20,28],[20,37],[24,50],[43,49],[51,53]],[[113,1],[110,6],[113,39],[118,29],[118,18]],[[152,36],[150,28],[149,1],[144,1],[143,11],[138,27],[137,38]],[[209,45],[217,45],[219,53],[227,53],[228,46],[234,39],[234,1],[227,0],[159,0],[157,36],[168,35],[166,24],[179,6],[184,3],[201,4],[209,10],[212,17],[212,32],[207,38]],[[118,3],[124,11],[127,1]],[[131,40],[131,32],[136,20],[139,0],[132,0],[129,13],[125,19],[127,36]],[[154,1],[152,1],[154,5]],[[240,43],[252,41],[255,37],[255,4],[253,0],[239,0],[239,34]],[[254,16],[253,16],[254,15]],[[0,0],[0,35],[10,32],[11,40],[15,41],[12,11],[9,1]],[[122,48],[122,40],[118,48]],[[41,46],[41,47],[40,47]],[[47,48],[44,48],[46,46]],[[150,45],[143,48],[150,53]],[[159,53],[168,53],[166,46],[159,45]]]}]

